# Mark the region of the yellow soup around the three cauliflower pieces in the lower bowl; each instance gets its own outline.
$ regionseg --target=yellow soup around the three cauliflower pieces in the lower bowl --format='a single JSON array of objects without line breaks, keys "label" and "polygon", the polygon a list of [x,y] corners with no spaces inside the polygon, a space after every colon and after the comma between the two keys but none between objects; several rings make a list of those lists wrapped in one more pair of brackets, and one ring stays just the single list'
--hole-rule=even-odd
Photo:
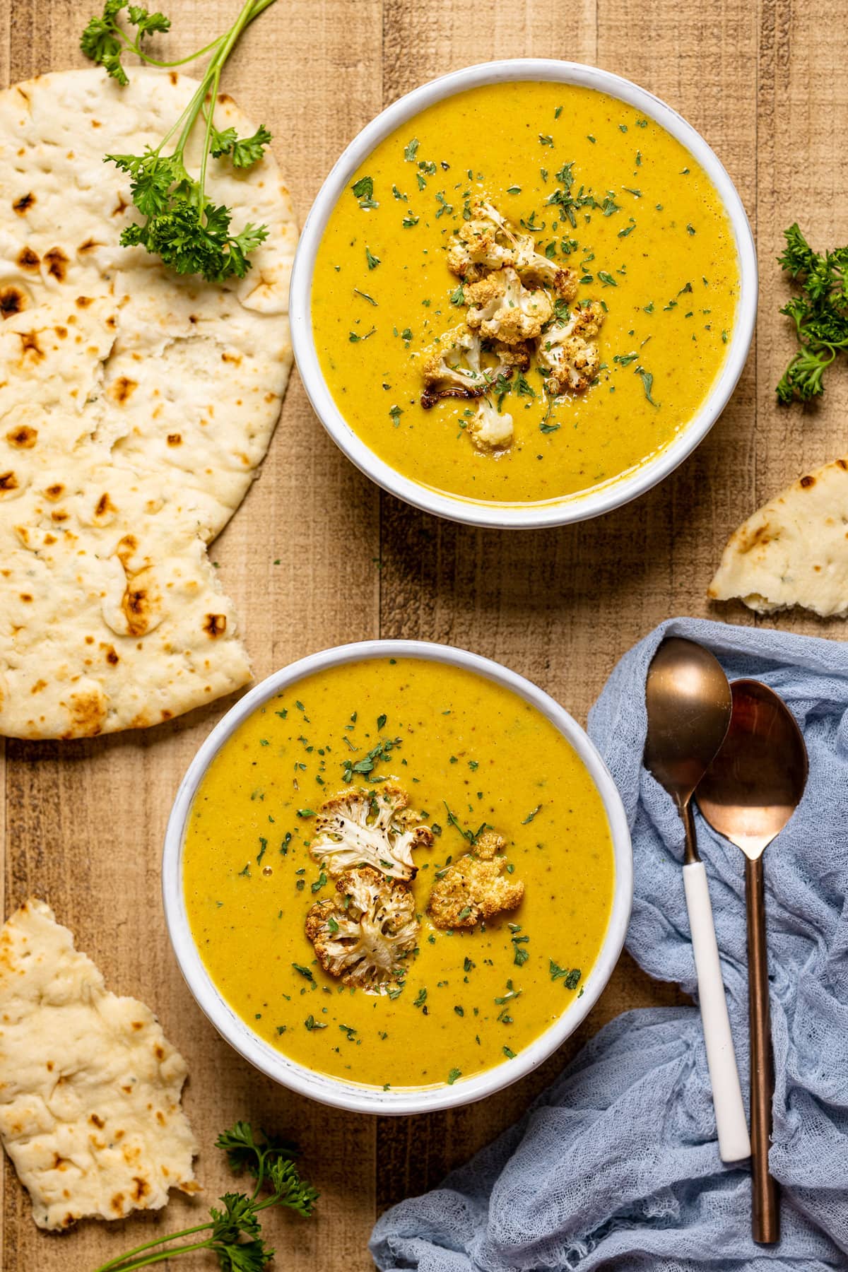
[{"label": "yellow soup around the three cauliflower pieces in the lower bowl", "polygon": [[[403,787],[434,833],[416,848],[421,926],[390,993],[325,973],[304,930],[333,895],[309,851],[315,810],[351,777]],[[484,823],[524,899],[437,929],[434,880]],[[570,743],[514,693],[414,659],[338,667],[256,711],[198,789],[183,857],[193,937],[233,1009],[301,1065],[390,1088],[510,1063],[557,1020],[591,981],[613,883],[604,806]]]}]

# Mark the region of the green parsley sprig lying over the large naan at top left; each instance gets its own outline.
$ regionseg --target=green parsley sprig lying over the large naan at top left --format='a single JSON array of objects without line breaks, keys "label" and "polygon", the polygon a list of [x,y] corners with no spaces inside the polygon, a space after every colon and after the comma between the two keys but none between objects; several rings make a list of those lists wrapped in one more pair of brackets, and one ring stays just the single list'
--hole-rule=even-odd
[{"label": "green parsley sprig lying over the large naan at top left", "polygon": [[[122,59],[130,52],[154,66],[182,66],[203,53],[212,53],[195,95],[155,149],[149,146],[141,155],[106,155],[106,162],[128,173],[132,201],[144,218],[125,228],[121,243],[146,248],[177,273],[200,273],[209,282],[224,282],[234,276],[243,279],[250,268],[248,257],[268,237],[264,225],[252,223],[238,234],[231,233],[230,209],[207,200],[206,169],[210,154],[214,158],[228,155],[234,168],[249,168],[262,158],[271,140],[266,127],[259,127],[250,137],[239,137],[235,128],[219,131],[212,122],[212,104],[217,100],[224,65],[244,28],[271,4],[273,0],[248,0],[228,32],[175,62],[158,61],[142,47],[147,36],[170,29],[170,20],[161,13],[150,14],[122,0],[106,0],[102,17],[92,18],[83,32],[80,47],[85,56],[120,84],[128,83]],[[118,22],[123,9],[136,28],[135,38],[130,38]],[[209,108],[207,97],[212,103]],[[184,154],[201,114],[203,150],[200,174],[195,178],[186,168]]]}]

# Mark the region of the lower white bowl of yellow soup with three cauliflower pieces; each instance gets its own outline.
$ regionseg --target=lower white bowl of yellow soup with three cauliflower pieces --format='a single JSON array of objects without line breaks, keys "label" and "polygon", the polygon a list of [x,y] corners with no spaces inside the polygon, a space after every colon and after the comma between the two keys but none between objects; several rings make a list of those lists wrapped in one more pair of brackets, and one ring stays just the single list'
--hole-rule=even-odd
[{"label": "lower white bowl of yellow soup with three cauliflower pieces", "polygon": [[212,730],[163,893],[195,999],[257,1068],[359,1112],[481,1099],[567,1038],[631,913],[618,791],[575,720],[489,659],[367,641]]}]

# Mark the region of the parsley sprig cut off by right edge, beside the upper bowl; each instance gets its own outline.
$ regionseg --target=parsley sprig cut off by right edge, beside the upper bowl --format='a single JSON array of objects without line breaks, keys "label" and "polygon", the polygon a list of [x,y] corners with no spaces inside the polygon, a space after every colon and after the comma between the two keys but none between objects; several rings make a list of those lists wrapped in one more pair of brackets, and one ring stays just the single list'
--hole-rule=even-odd
[{"label": "parsley sprig cut off by right edge, beside the upper bowl", "polygon": [[809,402],[824,393],[824,373],[848,349],[848,247],[814,252],[797,223],[784,230],[778,263],[800,285],[781,309],[795,323],[800,350],[777,385],[778,402]]}]

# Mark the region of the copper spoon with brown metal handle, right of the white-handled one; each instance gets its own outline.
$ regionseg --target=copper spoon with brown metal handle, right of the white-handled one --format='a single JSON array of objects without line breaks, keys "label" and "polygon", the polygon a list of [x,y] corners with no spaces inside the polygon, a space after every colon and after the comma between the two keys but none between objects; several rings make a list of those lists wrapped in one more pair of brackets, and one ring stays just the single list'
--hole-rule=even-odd
[{"label": "copper spoon with brown metal handle, right of the white-handled one", "polygon": [[774,1065],[768,1004],[763,852],[801,803],[807,748],[782,698],[759,681],[735,681],[734,711],[723,745],[697,800],[707,822],[745,854],[748,1001],[751,1034],[751,1175],[755,1241],[781,1239],[777,1180],[768,1169]]}]

